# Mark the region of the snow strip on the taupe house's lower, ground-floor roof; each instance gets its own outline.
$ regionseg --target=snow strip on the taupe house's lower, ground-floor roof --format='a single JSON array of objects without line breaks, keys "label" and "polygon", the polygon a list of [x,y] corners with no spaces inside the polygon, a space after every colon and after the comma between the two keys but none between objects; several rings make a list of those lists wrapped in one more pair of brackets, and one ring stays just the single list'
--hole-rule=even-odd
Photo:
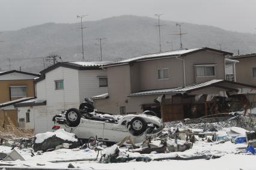
[{"label": "snow strip on the taupe house's lower, ground-floor roof", "polygon": [[210,86],[211,84],[218,83],[220,81],[224,81],[224,80],[210,80],[210,81],[206,81],[204,83],[192,84],[192,85],[186,86],[186,87],[177,87],[177,88],[160,89],[160,90],[149,90],[149,91],[145,91],[145,92],[132,93],[127,96],[154,95],[154,94],[164,94],[164,93],[185,93],[189,90],[195,90],[195,89],[198,89],[201,87]]}]

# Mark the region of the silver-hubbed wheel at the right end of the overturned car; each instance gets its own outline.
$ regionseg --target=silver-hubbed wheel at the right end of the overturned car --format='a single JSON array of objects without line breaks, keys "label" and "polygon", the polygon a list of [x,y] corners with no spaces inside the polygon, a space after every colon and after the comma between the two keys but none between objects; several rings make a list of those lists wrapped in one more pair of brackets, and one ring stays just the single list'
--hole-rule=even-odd
[{"label": "silver-hubbed wheel at the right end of the overturned car", "polygon": [[130,126],[134,132],[134,135],[140,135],[146,129],[146,122],[141,117],[135,117],[131,120]]}]

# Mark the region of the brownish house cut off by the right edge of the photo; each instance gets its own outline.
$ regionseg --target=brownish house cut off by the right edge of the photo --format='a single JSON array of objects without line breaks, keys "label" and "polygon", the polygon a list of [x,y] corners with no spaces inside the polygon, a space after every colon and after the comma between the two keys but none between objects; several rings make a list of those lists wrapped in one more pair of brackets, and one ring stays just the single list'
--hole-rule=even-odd
[{"label": "brownish house cut off by the right edge of the photo", "polygon": [[233,56],[230,59],[239,61],[236,64],[237,82],[256,86],[256,53]]}]

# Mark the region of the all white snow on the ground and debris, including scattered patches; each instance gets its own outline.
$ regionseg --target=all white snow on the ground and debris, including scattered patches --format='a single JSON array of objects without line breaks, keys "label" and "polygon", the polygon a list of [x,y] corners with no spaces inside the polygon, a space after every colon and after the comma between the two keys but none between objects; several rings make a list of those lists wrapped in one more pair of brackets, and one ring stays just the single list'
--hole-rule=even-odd
[{"label": "all white snow on the ground and debris, including scattered patches", "polygon": [[[184,127],[184,126],[183,126]],[[226,126],[225,126],[226,127]],[[165,129],[165,133],[168,130]],[[171,130],[171,129],[169,129]],[[180,129],[181,130],[181,129]],[[195,132],[201,132],[202,129],[191,129]],[[58,132],[57,132],[58,131]],[[73,136],[70,136],[71,133],[62,132],[62,129],[57,130],[55,133],[61,138],[70,139]],[[216,132],[217,135],[233,135],[236,133],[237,136],[245,136],[245,129],[238,127],[230,127],[230,128],[222,128]],[[55,134],[54,133],[54,134]],[[42,141],[49,136],[52,136],[52,132],[47,132],[44,134],[38,134],[37,139]],[[72,134],[71,134],[72,135]],[[73,138],[72,138],[73,139]],[[157,142],[157,141],[155,141]],[[72,163],[75,168],[81,169],[154,169],[154,170],[162,170],[162,169],[227,169],[227,170],[249,170],[256,169],[256,155],[251,153],[245,153],[245,148],[247,147],[246,143],[243,144],[234,144],[231,141],[221,142],[207,142],[206,138],[198,138],[198,141],[195,142],[193,147],[189,150],[183,152],[169,152],[169,153],[151,153],[151,154],[139,154],[139,153],[130,153],[127,152],[126,148],[120,148],[119,156],[127,156],[136,157],[143,156],[149,157],[151,159],[150,162],[136,162],[136,160],[130,160],[126,163],[99,163],[100,155],[98,159],[97,151],[90,150],[88,148],[85,149],[66,149],[61,148],[59,150],[47,151],[47,152],[33,152],[34,156],[32,156],[32,148],[26,148],[19,150],[19,148],[15,148],[25,161],[16,160],[11,162],[2,162],[1,163],[10,163],[14,165],[16,168],[58,168],[58,169],[66,169],[69,166],[69,163]],[[111,153],[114,151],[115,147],[106,148],[106,150],[102,151],[104,153]],[[11,147],[0,146],[0,153],[10,153]],[[198,155],[208,155],[208,156],[221,156],[216,159],[197,159],[197,160],[162,160],[156,161],[154,159],[166,158],[166,157],[190,157],[190,156],[198,156]],[[87,159],[87,160],[85,160]],[[65,162],[66,160],[66,162]],[[62,161],[62,162],[59,162]],[[63,162],[64,161],[64,162]],[[53,163],[56,162],[56,163]],[[1,169],[1,166],[0,166]]]}]

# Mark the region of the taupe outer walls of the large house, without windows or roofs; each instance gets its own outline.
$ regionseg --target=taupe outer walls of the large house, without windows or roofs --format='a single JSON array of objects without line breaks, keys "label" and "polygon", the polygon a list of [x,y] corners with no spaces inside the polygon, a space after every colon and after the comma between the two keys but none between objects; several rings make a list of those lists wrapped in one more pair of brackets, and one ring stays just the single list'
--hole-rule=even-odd
[{"label": "taupe outer walls of the large house, without windows or roofs", "polygon": [[[180,57],[181,58],[181,57]],[[225,78],[225,57],[222,53],[199,51],[182,57],[185,61],[186,86],[212,79]],[[214,64],[215,76],[197,77],[195,65]],[[158,69],[168,68],[169,77],[158,78]],[[126,107],[126,113],[141,113],[141,105],[154,104],[159,95],[127,97],[130,93],[145,90],[183,87],[183,61],[176,57],[132,62],[125,65],[110,66],[108,72],[109,98],[95,99],[97,110],[120,114],[120,107]]]}]

